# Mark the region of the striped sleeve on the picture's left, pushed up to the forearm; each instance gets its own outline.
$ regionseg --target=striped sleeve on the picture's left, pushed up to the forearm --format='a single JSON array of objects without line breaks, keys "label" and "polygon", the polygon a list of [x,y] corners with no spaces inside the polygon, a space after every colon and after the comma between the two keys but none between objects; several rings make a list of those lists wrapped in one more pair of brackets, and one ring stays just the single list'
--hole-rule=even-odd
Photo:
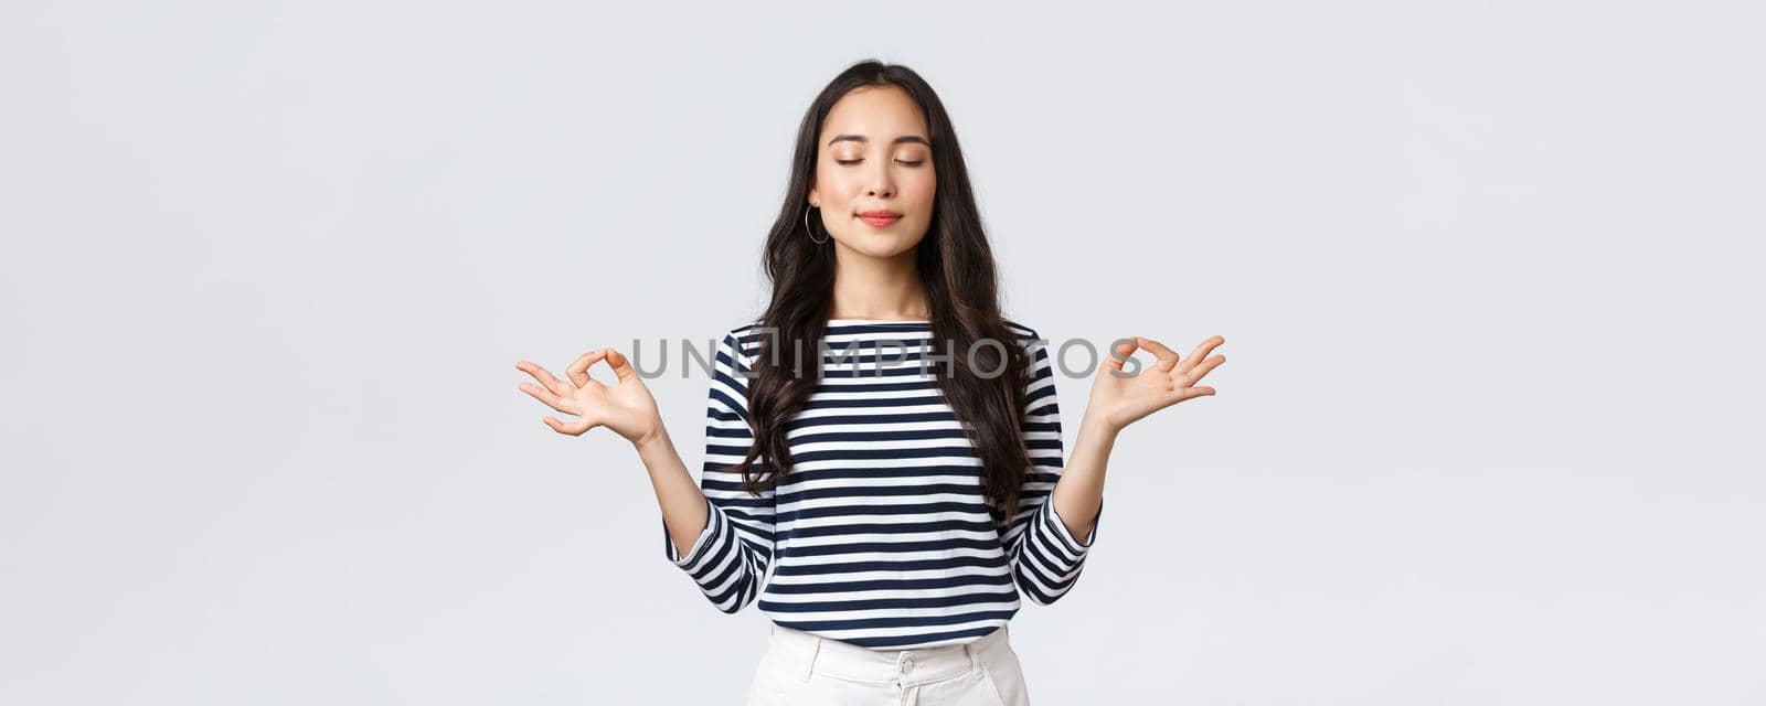
[{"label": "striped sleeve on the picture's left, pushed up to the forearm", "polygon": [[[699,477],[708,512],[705,530],[682,556],[668,533],[668,521],[662,522],[668,560],[685,570],[712,605],[724,612],[736,612],[759,597],[774,554],[774,491],[756,498],[740,487],[742,473],[729,469],[742,462],[754,441],[747,415],[749,379],[738,372],[749,369],[749,358],[738,332],[726,334],[717,344],[712,365]],[[763,461],[758,459],[758,464]]]}]

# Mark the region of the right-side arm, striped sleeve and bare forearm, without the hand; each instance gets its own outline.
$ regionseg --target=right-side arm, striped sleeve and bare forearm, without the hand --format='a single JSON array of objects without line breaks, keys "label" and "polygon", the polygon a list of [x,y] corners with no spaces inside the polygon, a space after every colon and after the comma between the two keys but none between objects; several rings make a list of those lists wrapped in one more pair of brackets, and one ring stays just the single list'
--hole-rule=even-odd
[{"label": "right-side arm, striped sleeve and bare forearm, without the hand", "polygon": [[[1109,441],[1088,434],[1090,427],[1081,425],[1079,443],[1074,448],[1075,466],[1063,468],[1061,408],[1054,392],[1054,367],[1047,342],[1035,332],[1031,337],[1028,344],[1031,376],[1024,390],[1030,471],[1024,475],[1019,514],[1003,542],[1014,581],[1031,602],[1047,605],[1074,588],[1097,540],[1097,519],[1104,514],[1104,464],[1098,461],[1095,469],[1077,464],[1098,455],[1100,441],[1102,455],[1107,457]],[[1075,503],[1086,501],[1086,492],[1090,492],[1090,510]],[[1051,501],[1051,496],[1056,501]]]}]

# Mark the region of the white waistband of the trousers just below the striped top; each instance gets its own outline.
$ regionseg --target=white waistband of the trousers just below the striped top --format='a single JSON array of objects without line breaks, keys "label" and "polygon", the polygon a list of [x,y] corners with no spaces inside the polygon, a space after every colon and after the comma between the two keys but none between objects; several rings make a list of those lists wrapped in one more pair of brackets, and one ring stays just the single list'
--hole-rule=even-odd
[{"label": "white waistband of the trousers just below the striped top", "polygon": [[964,644],[920,650],[871,650],[811,632],[772,623],[768,650],[777,651],[791,676],[807,681],[812,672],[872,685],[913,685],[948,680],[991,662],[1010,650],[1007,625]]}]

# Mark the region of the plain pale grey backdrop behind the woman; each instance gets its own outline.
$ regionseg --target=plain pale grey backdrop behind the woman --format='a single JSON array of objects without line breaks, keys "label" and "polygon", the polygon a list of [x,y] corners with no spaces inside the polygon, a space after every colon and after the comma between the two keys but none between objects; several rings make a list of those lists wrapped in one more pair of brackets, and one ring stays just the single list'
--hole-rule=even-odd
[{"label": "plain pale grey backdrop behind the woman", "polygon": [[[738,702],[765,618],[512,365],[759,312],[796,122],[876,56],[1008,316],[1227,339],[1014,620],[1038,704],[1757,704],[1761,19],[12,4],[0,701]],[[648,381],[694,473],[706,383]]]}]

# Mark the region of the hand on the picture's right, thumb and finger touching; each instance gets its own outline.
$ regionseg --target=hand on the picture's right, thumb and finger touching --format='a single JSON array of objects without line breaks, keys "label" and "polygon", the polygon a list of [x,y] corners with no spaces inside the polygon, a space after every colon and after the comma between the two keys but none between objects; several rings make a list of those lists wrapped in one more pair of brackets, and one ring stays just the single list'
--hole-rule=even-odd
[{"label": "hand on the picture's right, thumb and finger touching", "polygon": [[[1134,342],[1116,346],[1116,353],[1123,358],[1113,355],[1104,358],[1104,365],[1098,365],[1098,372],[1091,379],[1091,401],[1086,406],[1086,417],[1116,432],[1146,415],[1185,399],[1213,395],[1215,390],[1211,387],[1196,387],[1196,383],[1208,371],[1213,371],[1215,365],[1226,362],[1224,355],[1208,358],[1208,353],[1222,342],[1226,339],[1219,335],[1203,341],[1201,346],[1190,351],[1189,358],[1181,360],[1166,344],[1139,335],[1134,337]],[[1136,374],[1125,374],[1121,369],[1125,358],[1139,348],[1146,348],[1158,360]]]}]

